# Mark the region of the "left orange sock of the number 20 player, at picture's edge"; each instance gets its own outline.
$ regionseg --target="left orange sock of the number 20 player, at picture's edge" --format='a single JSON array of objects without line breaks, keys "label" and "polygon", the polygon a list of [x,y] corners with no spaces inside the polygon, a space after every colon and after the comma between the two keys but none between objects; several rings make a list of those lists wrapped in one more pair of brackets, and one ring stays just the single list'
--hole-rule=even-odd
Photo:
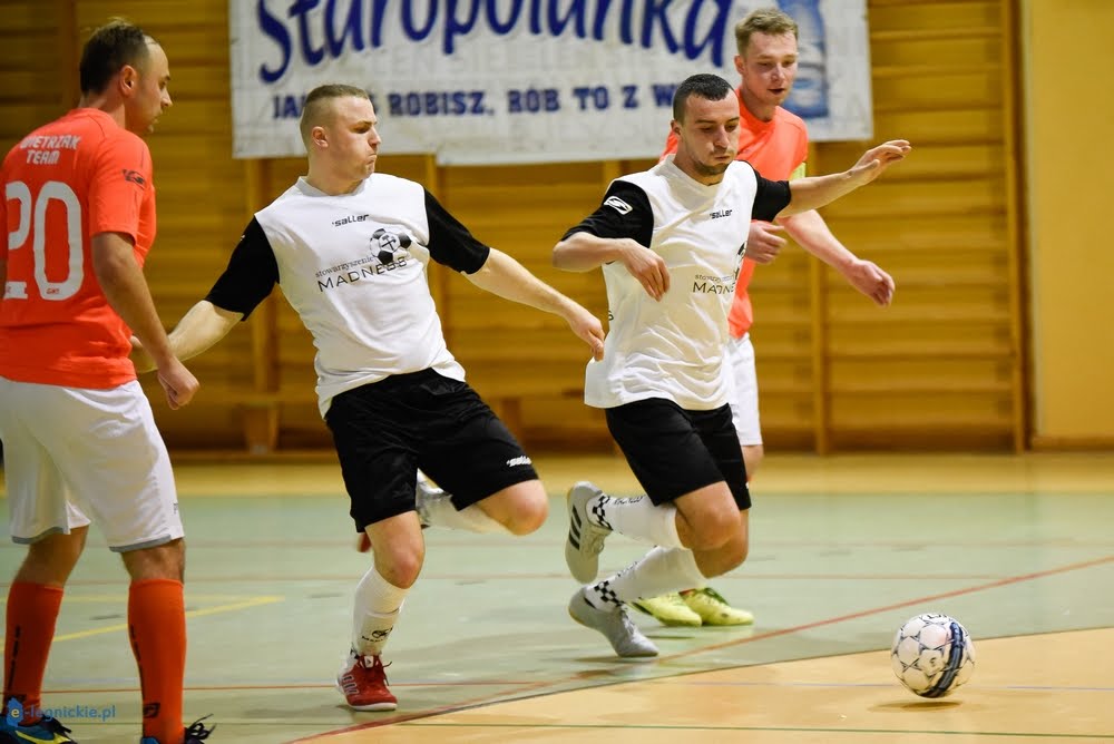
[{"label": "left orange sock of the number 20 player, at picture's edge", "polygon": [[22,723],[39,719],[42,702],[42,675],[55,637],[58,609],[62,604],[60,587],[16,581],[8,589],[8,625],[3,643],[3,701],[12,697],[23,704]]}]

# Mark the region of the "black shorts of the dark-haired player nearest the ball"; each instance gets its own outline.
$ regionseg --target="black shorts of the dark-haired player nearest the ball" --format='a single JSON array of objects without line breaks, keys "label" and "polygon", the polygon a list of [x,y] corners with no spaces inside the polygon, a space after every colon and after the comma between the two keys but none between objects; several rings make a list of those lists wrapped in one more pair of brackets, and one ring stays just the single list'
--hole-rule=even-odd
[{"label": "black shorts of the dark-haired player nearest the ball", "polygon": [[655,505],[726,481],[739,509],[751,508],[731,407],[687,411],[651,398],[609,408],[606,414],[612,437]]}]

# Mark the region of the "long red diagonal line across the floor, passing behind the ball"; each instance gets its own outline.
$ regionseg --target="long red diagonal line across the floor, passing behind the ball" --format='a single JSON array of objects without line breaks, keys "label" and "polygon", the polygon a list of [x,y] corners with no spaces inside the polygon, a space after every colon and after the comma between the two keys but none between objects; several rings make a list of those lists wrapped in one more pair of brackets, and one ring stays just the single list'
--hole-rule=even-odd
[{"label": "long red diagonal line across the floor, passing behind the ball", "polygon": [[[1083,569],[1086,569],[1086,568],[1094,568],[1096,566],[1102,566],[1104,564],[1110,564],[1110,562],[1114,562],[1114,555],[1103,556],[1102,558],[1094,558],[1092,560],[1084,560],[1084,561],[1079,561],[1079,562],[1075,562],[1075,564],[1068,564],[1066,566],[1061,566],[1058,568],[1049,568],[1049,569],[1043,570],[1043,571],[1033,571],[1033,572],[1029,572],[1029,574],[1022,574],[1019,576],[1008,577],[1008,578],[1005,578],[1005,579],[998,579],[996,581],[989,581],[989,583],[986,583],[986,584],[978,584],[978,585],[975,585],[973,587],[967,587],[965,589],[956,589],[954,591],[944,591],[944,593],[939,593],[939,594],[935,594],[935,595],[928,595],[926,597],[918,597],[916,599],[908,599],[908,600],[905,600],[905,601],[895,603],[895,604],[891,604],[891,605],[886,605],[883,607],[876,607],[873,609],[861,610],[861,611],[851,613],[851,614],[848,614],[848,615],[840,615],[838,617],[832,617],[832,618],[828,618],[828,619],[824,619],[824,620],[815,620],[813,623],[805,623],[804,625],[798,625],[798,626],[794,626],[794,627],[791,627],[791,628],[782,628],[780,630],[771,630],[769,633],[756,634],[756,635],[753,635],[753,636],[749,636],[746,638],[736,638],[734,640],[727,640],[727,642],[720,643],[720,644],[712,644],[711,646],[702,646],[701,648],[694,648],[694,649],[691,649],[691,650],[687,650],[687,652],[683,652],[683,653],[680,653],[680,654],[672,654],[672,655],[668,655],[668,656],[658,656],[658,657],[656,657],[654,659],[654,663],[691,658],[693,656],[697,656],[700,654],[705,654],[705,653],[712,652],[712,650],[721,650],[721,649],[731,648],[731,647],[734,647],[734,646],[742,646],[744,644],[754,643],[756,640],[765,640],[768,638],[776,638],[776,637],[789,635],[789,634],[793,634],[793,633],[801,633],[803,630],[811,630],[813,628],[819,628],[819,627],[823,627],[823,626],[827,626],[827,625],[836,625],[836,624],[843,623],[843,621],[847,621],[847,620],[859,619],[861,617],[869,617],[870,615],[878,615],[878,614],[881,614],[881,613],[888,613],[890,610],[900,609],[902,607],[910,607],[910,606],[913,606],[913,605],[920,605],[920,604],[925,604],[925,603],[928,603],[928,601],[936,601],[938,599],[948,599],[948,598],[951,598],[951,597],[961,597],[964,595],[975,594],[977,591],[985,591],[987,589],[996,589],[996,588],[999,588],[999,587],[1009,586],[1012,584],[1020,584],[1023,581],[1033,581],[1033,580],[1036,580],[1036,579],[1047,578],[1049,576],[1056,576],[1057,574],[1067,574],[1069,571],[1077,571],[1077,570],[1083,570]],[[706,672],[706,669],[702,669],[702,670],[698,670],[698,672],[682,673],[682,674],[673,675],[673,676],[684,676],[685,674],[698,674],[698,673],[702,673],[702,672]],[[444,705],[444,706],[440,706],[440,707],[428,708],[426,711],[414,711],[413,713],[405,713],[405,714],[402,714],[402,715],[388,716],[388,717],[381,718],[379,721],[369,721],[367,723],[355,724],[355,725],[352,725],[352,726],[345,726],[343,728],[338,728],[338,730],[330,731],[330,732],[322,732],[321,734],[314,734],[314,735],[305,737],[305,738],[297,738],[297,740],[294,740],[293,742],[291,742],[290,744],[301,744],[302,742],[313,742],[313,741],[324,740],[324,738],[328,738],[330,736],[336,736],[336,735],[340,735],[340,734],[346,734],[346,733],[350,733],[350,732],[364,731],[364,730],[368,730],[368,728],[380,728],[380,727],[383,727],[383,726],[390,726],[390,725],[394,725],[394,724],[408,723],[408,722],[411,722],[411,721],[419,721],[421,718],[430,718],[430,717],[433,717],[433,716],[437,716],[437,715],[442,715],[442,714],[446,714],[446,713],[459,713],[461,711],[468,711],[468,709],[471,709],[471,708],[483,707],[486,705],[491,705],[494,703],[507,703],[507,702],[510,702],[510,701],[521,701],[521,699],[527,699],[527,698],[530,698],[530,697],[540,697],[543,695],[553,694],[553,693],[543,692],[547,687],[550,687],[550,688],[551,687],[558,687],[560,685],[568,685],[568,684],[576,683],[577,681],[580,681],[580,679],[589,679],[592,677],[605,677],[605,676],[610,675],[610,674],[612,674],[612,669],[587,669],[585,672],[578,673],[578,674],[576,674],[574,676],[570,676],[570,677],[565,677],[565,678],[560,678],[560,679],[549,679],[549,681],[545,681],[545,682],[537,682],[537,683],[532,683],[532,684],[528,684],[528,685],[522,685],[520,688],[512,689],[507,695],[499,696],[497,698],[491,698],[491,697],[473,698],[473,699],[463,701],[461,703],[457,703],[457,704],[453,704],[453,705]],[[666,676],[668,676],[668,675],[666,675]],[[645,682],[645,681],[638,681],[638,682]],[[634,684],[634,683],[632,683],[631,681],[623,681],[623,682],[615,682],[615,683],[612,683],[612,684],[623,685],[623,684]],[[583,687],[580,689],[583,689]],[[559,691],[559,692],[574,692],[574,691]]]}]

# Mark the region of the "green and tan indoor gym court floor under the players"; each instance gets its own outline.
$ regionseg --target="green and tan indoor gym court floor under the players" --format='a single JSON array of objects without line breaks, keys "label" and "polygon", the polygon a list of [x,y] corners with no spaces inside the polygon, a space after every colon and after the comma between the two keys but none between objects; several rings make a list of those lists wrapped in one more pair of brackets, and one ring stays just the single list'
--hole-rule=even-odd
[{"label": "green and tan indoor gym court floor under the players", "polygon": [[[771,456],[751,557],[713,583],[756,624],[635,615],[662,649],[638,663],[566,614],[560,498],[582,478],[637,486],[609,457],[536,464],[554,498],[535,535],[426,532],[384,654],[399,709],[377,714],[331,682],[367,569],[335,466],[179,463],[188,719],[213,714],[217,744],[1114,742],[1114,454]],[[602,568],[642,552],[615,536]],[[21,557],[0,544],[0,579]],[[82,744],[138,741],[126,586],[94,530],[43,699]],[[889,667],[895,630],[922,611],[975,638],[973,679],[941,701]]]}]

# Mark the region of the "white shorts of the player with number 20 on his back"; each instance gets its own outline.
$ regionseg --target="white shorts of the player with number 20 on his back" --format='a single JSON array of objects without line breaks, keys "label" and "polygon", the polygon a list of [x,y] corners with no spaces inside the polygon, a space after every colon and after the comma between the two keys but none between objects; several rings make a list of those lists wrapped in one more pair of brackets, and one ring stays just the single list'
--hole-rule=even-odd
[{"label": "white shorts of the player with number 20 on his back", "polygon": [[95,521],[125,552],[183,536],[170,458],[143,388],[92,390],[0,376],[11,539]]}]

